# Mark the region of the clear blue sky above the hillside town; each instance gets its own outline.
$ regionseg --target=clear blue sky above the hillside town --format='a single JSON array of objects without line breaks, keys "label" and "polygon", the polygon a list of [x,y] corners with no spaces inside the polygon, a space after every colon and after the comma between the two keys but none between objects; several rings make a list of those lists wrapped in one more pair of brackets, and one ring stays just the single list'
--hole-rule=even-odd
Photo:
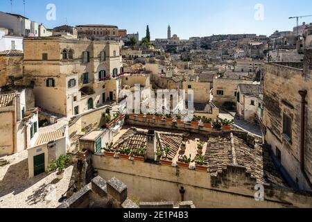
[{"label": "clear blue sky above the hillside town", "polygon": [[[12,0],[13,12],[24,15],[23,0]],[[48,28],[68,23],[112,24],[128,33],[139,31],[144,37],[146,24],[152,39],[166,37],[168,24],[172,34],[182,39],[228,33],[270,35],[275,30],[291,30],[291,16],[312,15],[311,0],[25,0],[26,17]],[[56,6],[56,20],[46,20],[46,5]],[[264,19],[254,19],[254,6],[264,6]],[[0,10],[10,12],[10,0],[0,1]],[[300,22],[312,22],[312,17]]]}]

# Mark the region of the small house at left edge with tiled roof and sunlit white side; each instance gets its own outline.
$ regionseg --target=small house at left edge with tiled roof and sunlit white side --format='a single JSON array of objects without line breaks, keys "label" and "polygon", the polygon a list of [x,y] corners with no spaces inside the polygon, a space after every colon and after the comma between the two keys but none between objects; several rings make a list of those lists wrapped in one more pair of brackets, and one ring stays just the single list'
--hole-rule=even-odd
[{"label": "small house at left edge with tiled roof and sunlit white side", "polygon": [[0,156],[33,146],[38,137],[38,110],[32,89],[1,90],[0,135]]}]

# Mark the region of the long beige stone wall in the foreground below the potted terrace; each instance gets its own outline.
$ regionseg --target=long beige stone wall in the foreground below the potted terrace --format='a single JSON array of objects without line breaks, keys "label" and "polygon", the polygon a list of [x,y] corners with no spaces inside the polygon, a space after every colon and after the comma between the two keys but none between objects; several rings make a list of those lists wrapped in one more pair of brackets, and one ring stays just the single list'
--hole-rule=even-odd
[{"label": "long beige stone wall in the foreground below the potted terrace", "polygon": [[104,179],[122,178],[131,196],[142,202],[193,200],[196,207],[312,207],[311,193],[298,193],[278,187],[265,188],[265,200],[254,200],[257,182],[244,167],[228,166],[211,175],[205,171],[169,167],[93,155],[98,175]]}]

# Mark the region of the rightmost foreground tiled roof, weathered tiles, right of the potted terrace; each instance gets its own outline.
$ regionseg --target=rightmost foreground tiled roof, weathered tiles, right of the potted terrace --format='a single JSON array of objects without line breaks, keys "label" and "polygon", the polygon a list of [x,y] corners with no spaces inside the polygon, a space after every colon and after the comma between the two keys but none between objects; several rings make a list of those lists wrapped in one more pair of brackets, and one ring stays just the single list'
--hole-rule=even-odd
[{"label": "rightmost foreground tiled roof, weathered tiles, right of the potted terrace", "polygon": [[234,139],[236,164],[246,167],[247,171],[259,182],[287,187],[278,169],[274,166],[268,149],[259,145],[250,148],[243,139],[236,136],[209,138],[205,162],[211,173],[222,171],[227,164],[233,164],[232,138]]}]

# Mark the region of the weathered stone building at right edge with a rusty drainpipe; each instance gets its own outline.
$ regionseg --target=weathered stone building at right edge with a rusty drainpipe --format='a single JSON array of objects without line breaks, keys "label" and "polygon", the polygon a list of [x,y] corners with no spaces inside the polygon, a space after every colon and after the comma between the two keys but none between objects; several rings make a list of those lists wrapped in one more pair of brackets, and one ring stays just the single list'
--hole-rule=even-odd
[{"label": "weathered stone building at right edge with a rusty drainpipe", "polygon": [[312,50],[304,62],[266,65],[264,82],[265,140],[281,166],[300,189],[312,181]]}]

